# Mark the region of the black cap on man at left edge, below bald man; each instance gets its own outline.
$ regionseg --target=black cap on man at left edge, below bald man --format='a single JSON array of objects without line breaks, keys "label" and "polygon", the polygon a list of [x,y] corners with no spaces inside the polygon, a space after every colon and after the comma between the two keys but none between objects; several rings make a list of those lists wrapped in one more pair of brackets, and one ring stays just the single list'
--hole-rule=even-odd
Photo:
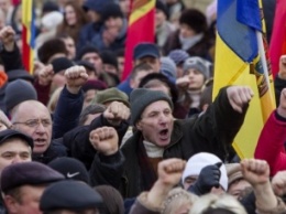
[{"label": "black cap on man at left edge, below bald man", "polygon": [[24,140],[32,149],[34,147],[34,141],[30,136],[22,133],[21,131],[16,131],[13,129],[6,129],[0,131],[0,145],[4,143],[7,140],[11,138],[20,138]]}]

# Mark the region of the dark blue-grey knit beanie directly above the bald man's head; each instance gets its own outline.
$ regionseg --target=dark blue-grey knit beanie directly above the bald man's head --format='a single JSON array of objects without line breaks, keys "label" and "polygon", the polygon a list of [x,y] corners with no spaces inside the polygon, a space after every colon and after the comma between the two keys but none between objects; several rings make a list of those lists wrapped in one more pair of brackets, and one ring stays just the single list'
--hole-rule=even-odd
[{"label": "dark blue-grey knit beanie directly above the bald man's head", "polygon": [[30,99],[37,100],[36,90],[31,83],[16,79],[7,85],[4,103],[8,111],[12,110],[20,103]]}]

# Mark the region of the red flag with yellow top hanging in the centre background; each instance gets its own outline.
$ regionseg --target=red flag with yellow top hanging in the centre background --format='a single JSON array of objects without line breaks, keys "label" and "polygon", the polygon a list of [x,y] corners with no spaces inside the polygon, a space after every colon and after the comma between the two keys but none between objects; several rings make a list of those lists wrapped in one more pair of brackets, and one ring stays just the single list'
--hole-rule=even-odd
[{"label": "red flag with yellow top hanging in the centre background", "polygon": [[155,0],[133,0],[131,3],[122,81],[132,69],[133,50],[136,44],[155,40]]}]

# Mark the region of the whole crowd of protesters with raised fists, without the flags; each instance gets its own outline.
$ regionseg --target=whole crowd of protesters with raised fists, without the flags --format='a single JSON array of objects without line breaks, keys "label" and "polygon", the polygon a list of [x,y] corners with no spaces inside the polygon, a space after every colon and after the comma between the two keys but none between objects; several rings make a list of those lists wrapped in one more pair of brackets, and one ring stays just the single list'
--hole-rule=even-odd
[{"label": "whole crowd of protesters with raised fists, without the flags", "polygon": [[232,142],[255,95],[212,97],[217,1],[155,8],[155,42],[121,81],[130,0],[37,6],[33,71],[21,1],[0,0],[0,213],[286,213],[286,55],[277,108],[241,160]]}]

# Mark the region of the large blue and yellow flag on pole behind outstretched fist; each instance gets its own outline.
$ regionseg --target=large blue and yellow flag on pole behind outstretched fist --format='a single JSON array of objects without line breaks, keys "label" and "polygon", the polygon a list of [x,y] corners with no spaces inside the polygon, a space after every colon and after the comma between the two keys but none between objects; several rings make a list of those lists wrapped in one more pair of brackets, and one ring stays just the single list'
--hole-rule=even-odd
[{"label": "large blue and yellow flag on pole behind outstretched fist", "polygon": [[240,158],[254,156],[261,129],[275,108],[261,11],[258,0],[218,1],[213,97],[227,85],[248,85],[254,92],[233,142]]}]

